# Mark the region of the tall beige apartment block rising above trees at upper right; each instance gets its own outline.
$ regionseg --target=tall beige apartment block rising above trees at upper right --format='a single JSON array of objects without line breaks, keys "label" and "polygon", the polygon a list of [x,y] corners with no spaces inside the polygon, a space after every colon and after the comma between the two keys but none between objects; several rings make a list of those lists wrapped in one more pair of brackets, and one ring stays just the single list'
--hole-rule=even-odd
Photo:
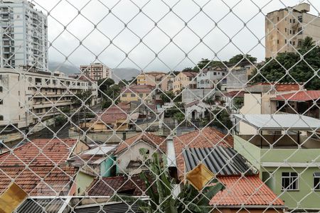
[{"label": "tall beige apartment block rising above trees at upper right", "polygon": [[267,13],[265,18],[265,57],[296,51],[300,40],[310,36],[320,40],[320,17],[310,13],[306,3]]}]

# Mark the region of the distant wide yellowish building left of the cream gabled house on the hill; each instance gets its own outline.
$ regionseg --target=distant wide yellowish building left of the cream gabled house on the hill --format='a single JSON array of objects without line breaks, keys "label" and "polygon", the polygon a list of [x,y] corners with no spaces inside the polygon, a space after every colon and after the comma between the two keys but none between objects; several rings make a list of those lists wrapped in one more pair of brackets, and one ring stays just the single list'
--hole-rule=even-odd
[{"label": "distant wide yellowish building left of the cream gabled house on the hill", "polygon": [[152,87],[159,85],[162,91],[168,91],[170,78],[166,72],[142,72],[137,76],[137,84],[151,85]]}]

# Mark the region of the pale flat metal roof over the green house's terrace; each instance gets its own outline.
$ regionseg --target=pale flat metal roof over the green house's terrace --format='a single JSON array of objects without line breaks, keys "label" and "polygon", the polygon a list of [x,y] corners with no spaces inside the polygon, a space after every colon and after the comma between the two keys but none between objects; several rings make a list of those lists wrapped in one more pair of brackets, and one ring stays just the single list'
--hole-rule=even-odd
[{"label": "pale flat metal roof over the green house's terrace", "polygon": [[243,121],[260,130],[313,130],[320,128],[320,120],[300,114],[235,114]]}]

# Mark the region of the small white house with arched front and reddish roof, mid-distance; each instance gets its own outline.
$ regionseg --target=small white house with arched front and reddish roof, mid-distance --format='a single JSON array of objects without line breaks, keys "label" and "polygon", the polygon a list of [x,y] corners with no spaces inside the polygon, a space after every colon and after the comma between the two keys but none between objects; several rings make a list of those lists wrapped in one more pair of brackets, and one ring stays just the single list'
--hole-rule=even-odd
[{"label": "small white house with arched front and reddish roof, mid-distance", "polygon": [[203,119],[208,114],[208,111],[213,110],[213,107],[210,104],[196,100],[184,105],[184,109],[187,120],[196,120]]}]

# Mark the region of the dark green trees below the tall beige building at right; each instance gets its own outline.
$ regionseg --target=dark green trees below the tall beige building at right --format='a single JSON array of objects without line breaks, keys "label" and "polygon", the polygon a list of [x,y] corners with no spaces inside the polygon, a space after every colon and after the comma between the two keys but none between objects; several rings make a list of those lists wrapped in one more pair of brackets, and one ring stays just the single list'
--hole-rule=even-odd
[{"label": "dark green trees below the tall beige building at right", "polygon": [[[299,53],[304,55],[304,60],[301,60]],[[310,41],[310,38],[306,38],[299,45],[299,53],[279,53],[277,60],[267,58],[266,65],[260,70],[260,75],[254,77],[252,82],[266,82],[266,80],[269,82],[307,82],[306,89],[320,89],[319,46],[314,48],[314,43]],[[257,70],[252,73],[252,77],[256,74]]]}]

